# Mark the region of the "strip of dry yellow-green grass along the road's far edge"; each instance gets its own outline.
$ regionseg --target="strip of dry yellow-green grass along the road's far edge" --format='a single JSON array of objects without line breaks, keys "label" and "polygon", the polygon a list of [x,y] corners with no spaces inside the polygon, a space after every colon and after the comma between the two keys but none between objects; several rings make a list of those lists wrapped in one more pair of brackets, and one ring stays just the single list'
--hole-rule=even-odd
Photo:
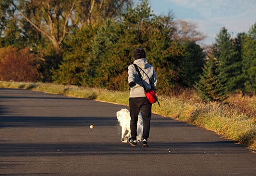
[{"label": "strip of dry yellow-green grass along the road's far edge", "polygon": [[[69,97],[94,99],[105,102],[129,104],[129,92],[108,91],[51,83],[21,83],[0,81],[0,87],[27,89]],[[159,97],[161,107],[155,103],[153,112],[165,117],[202,126],[226,138],[256,149],[256,97],[234,95],[229,105],[217,102],[204,103],[195,93],[185,92],[179,97]]]}]

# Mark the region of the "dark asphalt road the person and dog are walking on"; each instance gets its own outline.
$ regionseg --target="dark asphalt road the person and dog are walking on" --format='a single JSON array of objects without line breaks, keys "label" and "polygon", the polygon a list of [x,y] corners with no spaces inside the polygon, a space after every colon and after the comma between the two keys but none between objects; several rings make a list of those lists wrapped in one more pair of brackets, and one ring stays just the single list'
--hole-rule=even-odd
[{"label": "dark asphalt road the person and dog are walking on", "polygon": [[130,147],[121,108],[0,89],[0,175],[256,175],[255,153],[172,118],[153,115],[149,147]]}]

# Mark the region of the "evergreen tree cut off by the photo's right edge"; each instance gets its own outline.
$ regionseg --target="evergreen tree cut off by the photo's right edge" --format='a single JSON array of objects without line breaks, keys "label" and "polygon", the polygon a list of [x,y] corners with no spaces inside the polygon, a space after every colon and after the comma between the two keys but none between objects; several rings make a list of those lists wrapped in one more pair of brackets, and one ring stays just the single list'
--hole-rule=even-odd
[{"label": "evergreen tree cut off by the photo's right edge", "polygon": [[245,92],[256,92],[256,23],[245,35],[242,49]]}]

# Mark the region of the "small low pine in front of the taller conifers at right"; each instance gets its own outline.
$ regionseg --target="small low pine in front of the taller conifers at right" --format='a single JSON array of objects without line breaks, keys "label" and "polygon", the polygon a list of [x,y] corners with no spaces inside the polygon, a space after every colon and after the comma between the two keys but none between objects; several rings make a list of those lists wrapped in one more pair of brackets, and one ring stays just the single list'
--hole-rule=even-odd
[{"label": "small low pine in front of the taller conifers at right", "polygon": [[203,67],[203,74],[199,76],[195,88],[199,97],[204,101],[224,101],[227,96],[222,91],[218,78],[216,58],[208,58]]}]

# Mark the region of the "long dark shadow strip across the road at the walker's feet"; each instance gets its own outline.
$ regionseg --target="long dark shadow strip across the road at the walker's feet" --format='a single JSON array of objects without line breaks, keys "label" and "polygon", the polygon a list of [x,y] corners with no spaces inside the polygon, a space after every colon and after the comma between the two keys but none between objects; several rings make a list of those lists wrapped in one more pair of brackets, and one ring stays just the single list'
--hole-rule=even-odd
[{"label": "long dark shadow strip across the road at the walker's feet", "polygon": [[218,154],[244,153],[235,141],[150,143],[150,147],[130,147],[127,143],[4,143],[0,155],[11,156],[83,156],[139,154]]}]

